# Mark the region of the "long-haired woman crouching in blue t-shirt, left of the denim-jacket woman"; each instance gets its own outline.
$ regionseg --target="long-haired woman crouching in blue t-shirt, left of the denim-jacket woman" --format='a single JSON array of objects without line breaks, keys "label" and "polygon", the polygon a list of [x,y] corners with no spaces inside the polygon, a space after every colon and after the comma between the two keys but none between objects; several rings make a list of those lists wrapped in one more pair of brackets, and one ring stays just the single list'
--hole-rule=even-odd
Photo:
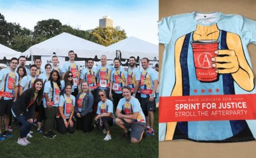
[{"label": "long-haired woman crouching in blue t-shirt, left of the denim-jacket woman", "polygon": [[75,109],[75,97],[71,95],[72,85],[65,85],[65,93],[59,98],[59,114],[57,115],[57,129],[60,133],[75,132],[75,121],[73,119]]}]

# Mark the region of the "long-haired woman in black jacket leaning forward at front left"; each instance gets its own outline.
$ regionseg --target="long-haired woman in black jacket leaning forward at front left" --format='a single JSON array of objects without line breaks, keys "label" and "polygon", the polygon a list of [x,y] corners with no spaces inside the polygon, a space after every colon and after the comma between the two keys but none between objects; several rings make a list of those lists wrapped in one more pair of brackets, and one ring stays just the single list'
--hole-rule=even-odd
[{"label": "long-haired woman in black jacket leaning forward at front left", "polygon": [[26,135],[32,128],[35,106],[41,103],[43,92],[42,80],[36,79],[33,87],[24,91],[12,105],[12,115],[22,124],[17,142],[19,145],[25,146],[30,143]]}]

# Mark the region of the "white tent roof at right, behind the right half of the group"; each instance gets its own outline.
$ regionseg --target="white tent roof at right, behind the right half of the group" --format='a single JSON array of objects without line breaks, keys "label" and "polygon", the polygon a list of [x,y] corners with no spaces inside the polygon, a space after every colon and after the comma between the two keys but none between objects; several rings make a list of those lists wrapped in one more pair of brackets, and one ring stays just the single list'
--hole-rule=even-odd
[{"label": "white tent roof at right, behind the right half of the group", "polygon": [[101,54],[105,54],[108,59],[114,59],[116,51],[121,51],[122,59],[128,59],[131,56],[140,58],[147,57],[153,60],[155,57],[158,59],[158,46],[149,42],[146,42],[136,37],[128,37],[117,43],[111,44],[106,50],[101,51]]}]

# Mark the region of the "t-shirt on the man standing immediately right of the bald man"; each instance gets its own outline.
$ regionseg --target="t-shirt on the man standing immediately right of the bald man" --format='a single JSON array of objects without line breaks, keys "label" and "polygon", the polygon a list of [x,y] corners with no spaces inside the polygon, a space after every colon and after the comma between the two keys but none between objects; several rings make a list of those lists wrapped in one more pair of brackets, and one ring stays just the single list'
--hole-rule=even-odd
[{"label": "t-shirt on the man standing immediately right of the bald man", "polygon": [[111,81],[113,81],[112,90],[117,93],[122,93],[122,87],[125,86],[125,80],[127,80],[127,71],[123,67],[120,67],[119,70],[112,70],[111,72]]}]

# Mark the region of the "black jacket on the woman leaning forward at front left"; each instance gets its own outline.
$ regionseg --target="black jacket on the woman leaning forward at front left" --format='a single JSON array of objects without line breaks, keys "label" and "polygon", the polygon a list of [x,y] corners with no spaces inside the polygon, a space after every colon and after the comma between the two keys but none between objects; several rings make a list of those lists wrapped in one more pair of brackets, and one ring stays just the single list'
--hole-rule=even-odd
[{"label": "black jacket on the woman leaning forward at front left", "polygon": [[12,111],[16,117],[24,114],[27,119],[34,118],[36,101],[28,108],[33,95],[32,91],[32,88],[28,88],[28,90],[25,90],[14,104],[12,104]]}]

